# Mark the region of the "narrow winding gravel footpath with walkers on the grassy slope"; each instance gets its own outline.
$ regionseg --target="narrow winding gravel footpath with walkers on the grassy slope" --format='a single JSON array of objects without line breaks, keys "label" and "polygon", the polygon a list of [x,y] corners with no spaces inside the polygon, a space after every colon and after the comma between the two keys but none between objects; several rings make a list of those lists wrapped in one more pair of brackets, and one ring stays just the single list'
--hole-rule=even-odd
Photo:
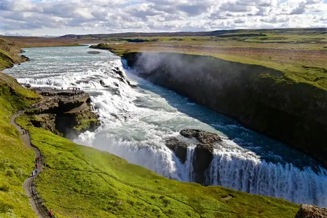
[{"label": "narrow winding gravel footpath with walkers on the grassy slope", "polygon": [[[38,157],[40,158],[40,162],[38,164],[38,169],[37,169],[38,170],[37,175],[35,175],[34,177],[29,177],[28,179],[26,179],[24,181],[23,188],[24,188],[27,196],[30,199],[30,204],[32,205],[32,208],[33,208],[35,214],[38,217],[50,217],[49,210],[45,207],[44,202],[43,202],[41,196],[39,195],[39,193],[36,191],[36,188],[35,188],[35,185],[34,185],[35,177],[38,176],[38,174],[44,168],[44,163],[43,163],[43,160],[42,160],[42,154],[41,154],[41,152],[40,152],[40,150],[38,148],[36,148],[36,147],[34,147],[32,145],[30,132],[28,130],[26,130],[26,133],[24,134],[24,132],[23,132],[24,129],[16,123],[16,118],[21,114],[22,114],[22,112],[18,112],[15,115],[13,115],[13,117],[10,119],[10,124],[13,125],[21,133],[21,139],[24,141],[24,144],[27,147],[34,150],[35,158],[38,158]],[[32,194],[32,190],[35,191],[34,196]]]}]

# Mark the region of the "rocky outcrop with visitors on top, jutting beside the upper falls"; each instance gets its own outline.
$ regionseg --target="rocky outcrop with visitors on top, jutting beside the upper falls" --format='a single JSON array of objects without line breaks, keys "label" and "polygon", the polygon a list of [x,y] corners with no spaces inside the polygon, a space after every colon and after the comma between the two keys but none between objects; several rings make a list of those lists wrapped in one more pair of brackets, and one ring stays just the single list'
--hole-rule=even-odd
[{"label": "rocky outcrop with visitors on top, jutting beside the upper falls", "polygon": [[[22,84],[29,87],[28,84]],[[83,90],[33,88],[42,101],[33,105],[30,115],[35,127],[41,127],[68,139],[87,130],[94,131],[99,125],[99,115],[92,112],[91,99]]]}]

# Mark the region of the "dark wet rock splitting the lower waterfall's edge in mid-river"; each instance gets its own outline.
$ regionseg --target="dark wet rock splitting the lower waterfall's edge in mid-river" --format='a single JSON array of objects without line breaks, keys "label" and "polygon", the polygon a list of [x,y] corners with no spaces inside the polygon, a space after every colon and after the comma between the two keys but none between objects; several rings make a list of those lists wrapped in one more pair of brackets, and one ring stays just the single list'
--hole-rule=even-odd
[{"label": "dark wet rock splitting the lower waterfall's edge in mid-river", "polygon": [[[186,138],[195,138],[197,144],[193,156],[193,169],[195,172],[195,182],[205,185],[205,174],[213,159],[214,143],[222,141],[222,137],[202,130],[181,130],[180,134]],[[175,155],[182,163],[187,160],[187,148],[190,146],[187,142],[182,142],[177,138],[166,140],[166,146],[174,151]]]}]

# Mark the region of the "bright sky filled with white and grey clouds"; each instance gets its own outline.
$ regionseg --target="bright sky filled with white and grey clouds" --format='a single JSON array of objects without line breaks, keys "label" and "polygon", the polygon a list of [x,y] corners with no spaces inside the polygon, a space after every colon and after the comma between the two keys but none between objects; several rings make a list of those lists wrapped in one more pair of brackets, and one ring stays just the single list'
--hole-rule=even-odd
[{"label": "bright sky filled with white and grey clouds", "polygon": [[327,0],[0,0],[0,34],[327,27]]}]

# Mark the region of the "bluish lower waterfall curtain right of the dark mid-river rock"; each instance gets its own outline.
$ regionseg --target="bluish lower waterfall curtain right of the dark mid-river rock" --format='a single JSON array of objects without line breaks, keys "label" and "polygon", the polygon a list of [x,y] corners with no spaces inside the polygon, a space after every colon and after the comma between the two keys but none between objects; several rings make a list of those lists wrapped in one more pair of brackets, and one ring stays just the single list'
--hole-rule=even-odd
[{"label": "bluish lower waterfall curtain right of the dark mid-river rock", "polygon": [[326,206],[327,174],[322,171],[317,175],[311,168],[300,170],[289,163],[267,163],[252,155],[215,149],[206,178],[210,185]]}]

